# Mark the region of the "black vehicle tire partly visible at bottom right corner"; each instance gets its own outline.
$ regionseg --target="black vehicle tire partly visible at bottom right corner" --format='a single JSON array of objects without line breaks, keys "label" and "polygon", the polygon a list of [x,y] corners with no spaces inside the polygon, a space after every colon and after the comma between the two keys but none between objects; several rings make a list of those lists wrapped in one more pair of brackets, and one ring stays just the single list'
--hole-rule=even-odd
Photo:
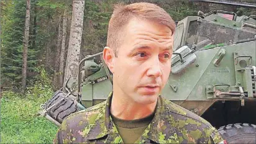
[{"label": "black vehicle tire partly visible at bottom right corner", "polygon": [[229,124],[220,127],[219,133],[227,143],[256,143],[254,124]]}]

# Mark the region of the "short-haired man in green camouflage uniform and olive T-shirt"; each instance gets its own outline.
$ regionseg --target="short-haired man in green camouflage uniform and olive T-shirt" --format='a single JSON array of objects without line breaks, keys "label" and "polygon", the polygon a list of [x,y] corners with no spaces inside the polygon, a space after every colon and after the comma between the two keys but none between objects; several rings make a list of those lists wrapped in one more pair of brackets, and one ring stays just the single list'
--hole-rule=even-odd
[{"label": "short-haired man in green camouflage uniform and olive T-shirt", "polygon": [[206,120],[164,99],[175,24],[145,2],[117,6],[103,58],[113,73],[107,101],[70,115],[54,143],[219,143]]}]

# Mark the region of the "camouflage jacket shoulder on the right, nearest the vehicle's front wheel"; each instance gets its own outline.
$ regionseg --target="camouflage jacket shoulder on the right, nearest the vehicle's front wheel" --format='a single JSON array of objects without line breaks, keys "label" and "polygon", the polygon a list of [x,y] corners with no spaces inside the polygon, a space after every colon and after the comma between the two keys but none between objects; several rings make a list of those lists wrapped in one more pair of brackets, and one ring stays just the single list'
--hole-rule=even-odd
[{"label": "camouflage jacket shoulder on the right, nearest the vehicle's front wheel", "polygon": [[168,100],[165,100],[165,106],[170,112],[170,119],[180,142],[207,143],[209,140],[214,140],[214,143],[219,143],[222,141],[216,128],[199,115]]}]

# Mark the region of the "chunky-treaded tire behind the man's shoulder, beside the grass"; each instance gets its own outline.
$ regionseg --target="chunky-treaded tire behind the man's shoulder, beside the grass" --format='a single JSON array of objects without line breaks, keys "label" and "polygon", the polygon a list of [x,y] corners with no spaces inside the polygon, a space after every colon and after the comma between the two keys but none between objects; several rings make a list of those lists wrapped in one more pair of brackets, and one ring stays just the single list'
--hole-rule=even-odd
[{"label": "chunky-treaded tire behind the man's shoulder, beside the grass", "polygon": [[59,122],[60,124],[62,124],[62,121],[68,115],[73,114],[74,112],[77,112],[79,110],[76,106],[76,104],[78,103],[76,101],[76,97],[70,95],[60,101],[65,96],[66,94],[62,91],[55,92],[55,94],[53,94],[53,97],[45,103],[44,107],[44,109],[48,109],[48,107],[57,103],[55,106],[47,111],[47,114],[50,115],[50,117],[52,117],[53,119],[57,120],[57,122]]}]

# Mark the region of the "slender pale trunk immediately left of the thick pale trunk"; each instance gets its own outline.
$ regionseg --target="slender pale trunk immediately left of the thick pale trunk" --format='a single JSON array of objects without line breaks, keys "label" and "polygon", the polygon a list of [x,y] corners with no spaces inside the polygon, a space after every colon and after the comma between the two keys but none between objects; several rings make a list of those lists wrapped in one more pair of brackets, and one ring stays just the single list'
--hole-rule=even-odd
[{"label": "slender pale trunk immediately left of the thick pale trunk", "polygon": [[63,25],[62,25],[62,49],[60,50],[60,68],[59,68],[59,86],[63,85],[63,73],[64,73],[64,56],[65,56],[65,45],[66,45],[66,12],[63,14]]}]

